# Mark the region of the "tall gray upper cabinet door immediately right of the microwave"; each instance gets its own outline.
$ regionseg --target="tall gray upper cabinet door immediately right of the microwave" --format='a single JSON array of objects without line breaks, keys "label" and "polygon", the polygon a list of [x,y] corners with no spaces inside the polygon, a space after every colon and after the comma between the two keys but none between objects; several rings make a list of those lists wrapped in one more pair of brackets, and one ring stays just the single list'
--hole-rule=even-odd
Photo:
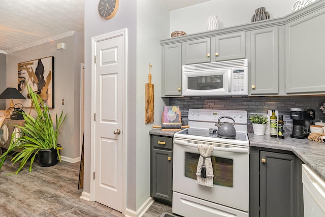
[{"label": "tall gray upper cabinet door immediately right of the microwave", "polygon": [[278,26],[249,33],[251,95],[278,94]]}]

